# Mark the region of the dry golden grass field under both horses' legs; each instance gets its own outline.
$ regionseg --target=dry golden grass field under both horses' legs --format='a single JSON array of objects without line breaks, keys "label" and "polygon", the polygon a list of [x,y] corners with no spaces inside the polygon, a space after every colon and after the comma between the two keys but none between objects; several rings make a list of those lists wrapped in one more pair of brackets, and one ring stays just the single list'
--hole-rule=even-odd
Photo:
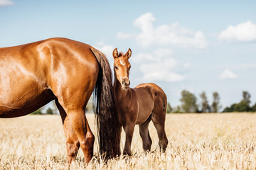
[{"label": "dry golden grass field under both horses' legs", "polygon": [[[95,132],[94,115],[87,114]],[[0,119],[0,169],[83,169],[80,149],[77,161],[65,164],[65,137],[59,115],[26,115]],[[166,115],[169,146],[159,152],[156,130],[149,131],[153,152],[144,153],[139,130],[132,140],[132,157],[107,164],[97,154],[86,169],[255,169],[256,114]],[[122,133],[121,148],[124,146]]]}]

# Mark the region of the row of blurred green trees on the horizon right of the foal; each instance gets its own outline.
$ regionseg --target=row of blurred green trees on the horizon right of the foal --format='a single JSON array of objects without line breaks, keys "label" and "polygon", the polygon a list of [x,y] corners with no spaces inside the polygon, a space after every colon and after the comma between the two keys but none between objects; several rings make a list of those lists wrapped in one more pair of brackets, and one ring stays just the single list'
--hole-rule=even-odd
[{"label": "row of blurred green trees on the horizon right of the foal", "polygon": [[[198,103],[194,94],[189,91],[181,91],[181,106],[172,108],[170,103],[167,103],[166,113],[219,113],[220,96],[218,92],[213,92],[213,102],[209,104],[206,92],[199,94],[201,103]],[[255,112],[256,103],[250,106],[250,94],[247,91],[242,91],[242,100],[240,103],[234,103],[230,107],[224,108],[222,112]]]}]

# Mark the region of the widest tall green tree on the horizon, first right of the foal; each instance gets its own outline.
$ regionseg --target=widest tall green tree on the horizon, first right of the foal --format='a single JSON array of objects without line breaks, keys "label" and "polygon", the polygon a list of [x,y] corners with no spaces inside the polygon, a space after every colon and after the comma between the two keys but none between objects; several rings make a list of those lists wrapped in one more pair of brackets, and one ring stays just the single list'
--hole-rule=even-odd
[{"label": "widest tall green tree on the horizon, first right of the foal", "polygon": [[181,108],[185,113],[196,113],[198,106],[196,104],[196,96],[189,91],[181,91]]}]

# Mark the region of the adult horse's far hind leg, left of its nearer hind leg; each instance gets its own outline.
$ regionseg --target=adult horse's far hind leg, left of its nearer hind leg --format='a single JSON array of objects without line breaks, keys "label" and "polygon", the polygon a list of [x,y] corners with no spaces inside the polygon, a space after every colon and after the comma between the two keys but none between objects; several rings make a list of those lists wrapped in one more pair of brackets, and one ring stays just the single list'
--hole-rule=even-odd
[{"label": "adult horse's far hind leg, left of its nearer hind leg", "polygon": [[75,130],[73,129],[72,124],[70,123],[68,115],[65,113],[63,107],[60,106],[60,103],[58,103],[57,100],[55,100],[55,103],[58,110],[60,111],[60,116],[63,121],[63,129],[65,132],[66,148],[68,154],[67,162],[70,164],[71,162],[75,161],[75,157],[78,154],[80,144],[78,141],[78,136],[75,134]]}]

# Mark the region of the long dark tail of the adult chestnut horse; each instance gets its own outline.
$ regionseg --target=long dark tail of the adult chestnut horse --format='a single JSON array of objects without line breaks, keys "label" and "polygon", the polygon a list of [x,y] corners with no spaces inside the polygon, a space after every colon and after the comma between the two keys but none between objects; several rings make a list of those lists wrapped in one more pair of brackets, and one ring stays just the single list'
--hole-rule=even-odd
[{"label": "long dark tail of the adult chestnut horse", "polygon": [[112,72],[107,57],[93,47],[91,50],[100,66],[94,94],[100,154],[106,154],[106,158],[109,159],[120,154],[121,134],[112,85]]}]

